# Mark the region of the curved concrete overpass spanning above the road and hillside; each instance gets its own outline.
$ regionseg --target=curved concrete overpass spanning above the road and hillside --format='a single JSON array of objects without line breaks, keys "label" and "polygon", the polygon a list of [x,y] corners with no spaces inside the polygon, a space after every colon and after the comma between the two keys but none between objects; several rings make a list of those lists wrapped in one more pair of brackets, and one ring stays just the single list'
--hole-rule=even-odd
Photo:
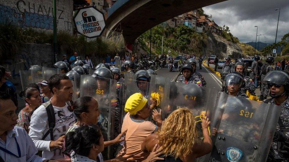
[{"label": "curved concrete overpass spanning above the road and hillside", "polygon": [[142,33],[168,19],[222,1],[227,0],[118,0],[106,14],[107,29],[122,31],[125,42],[132,44]]}]

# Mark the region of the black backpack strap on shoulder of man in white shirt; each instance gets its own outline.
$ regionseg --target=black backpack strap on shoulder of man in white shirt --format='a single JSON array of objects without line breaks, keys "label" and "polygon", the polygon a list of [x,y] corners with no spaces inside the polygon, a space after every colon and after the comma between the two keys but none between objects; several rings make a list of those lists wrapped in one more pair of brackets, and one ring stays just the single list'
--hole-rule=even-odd
[{"label": "black backpack strap on shoulder of man in white shirt", "polygon": [[46,113],[47,113],[47,118],[48,118],[48,127],[49,130],[44,134],[42,140],[44,140],[50,133],[50,140],[54,140],[53,138],[53,128],[55,127],[55,114],[54,114],[54,109],[53,106],[51,104],[51,102],[45,102],[44,107],[46,109]]}]

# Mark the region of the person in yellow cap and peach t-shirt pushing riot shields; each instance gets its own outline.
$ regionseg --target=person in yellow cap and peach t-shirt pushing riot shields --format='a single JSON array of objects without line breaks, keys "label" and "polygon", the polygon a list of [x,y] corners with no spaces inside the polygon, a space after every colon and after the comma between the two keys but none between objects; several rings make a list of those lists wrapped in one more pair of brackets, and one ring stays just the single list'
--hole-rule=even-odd
[{"label": "person in yellow cap and peach t-shirt pushing riot shields", "polygon": [[125,112],[121,131],[127,130],[123,149],[118,153],[118,156],[125,153],[123,157],[134,155],[132,158],[137,161],[142,161],[147,158],[149,153],[145,153],[141,149],[142,142],[147,136],[155,132],[162,125],[161,115],[157,110],[153,110],[152,117],[157,122],[153,124],[146,119],[150,117],[152,108],[155,107],[155,102],[148,105],[147,99],[141,93],[135,93],[126,101]]}]

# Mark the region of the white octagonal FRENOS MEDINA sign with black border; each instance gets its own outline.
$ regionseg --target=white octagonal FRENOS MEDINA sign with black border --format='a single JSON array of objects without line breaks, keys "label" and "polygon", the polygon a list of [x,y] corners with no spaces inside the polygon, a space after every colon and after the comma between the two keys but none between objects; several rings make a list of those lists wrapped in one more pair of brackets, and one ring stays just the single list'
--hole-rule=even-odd
[{"label": "white octagonal FRENOS MEDINA sign with black border", "polygon": [[94,38],[100,36],[105,30],[105,17],[94,6],[85,7],[75,14],[74,24],[79,34]]}]

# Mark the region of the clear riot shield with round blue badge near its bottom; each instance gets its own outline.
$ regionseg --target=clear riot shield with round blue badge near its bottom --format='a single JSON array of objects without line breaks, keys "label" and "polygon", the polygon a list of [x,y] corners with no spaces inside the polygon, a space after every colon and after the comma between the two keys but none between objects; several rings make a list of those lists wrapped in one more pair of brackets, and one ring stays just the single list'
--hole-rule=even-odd
[{"label": "clear riot shield with round blue badge near its bottom", "polygon": [[217,128],[209,161],[266,161],[280,107],[219,93],[211,119]]}]

